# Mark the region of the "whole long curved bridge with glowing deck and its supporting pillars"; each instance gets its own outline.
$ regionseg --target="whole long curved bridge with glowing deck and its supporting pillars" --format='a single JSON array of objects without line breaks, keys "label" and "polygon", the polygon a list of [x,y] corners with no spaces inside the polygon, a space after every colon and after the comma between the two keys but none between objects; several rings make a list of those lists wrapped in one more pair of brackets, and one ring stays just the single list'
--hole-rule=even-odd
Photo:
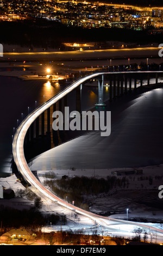
[{"label": "whole long curved bridge with glowing deck and its supporting pillars", "polygon": [[[71,83],[57,95],[44,102],[41,106],[37,107],[32,113],[30,113],[18,126],[17,131],[14,135],[14,139],[12,141],[12,153],[14,156],[14,162],[17,167],[18,172],[23,176],[24,180],[30,184],[32,188],[36,191],[37,195],[42,199],[50,199],[53,202],[57,202],[58,204],[68,208],[70,210],[75,210],[77,213],[88,216],[95,220],[97,223],[102,225],[107,225],[108,221],[112,220],[116,223],[128,223],[134,224],[135,222],[126,222],[121,220],[114,220],[109,217],[98,216],[96,214],[87,212],[85,210],[79,209],[74,205],[71,205],[61,198],[57,197],[50,190],[44,187],[41,182],[36,178],[36,176],[30,170],[26,157],[24,155],[24,148],[28,145],[29,141],[32,141],[35,137],[39,138],[39,136],[45,136],[45,134],[51,133],[51,108],[53,111],[57,108],[57,104],[59,109],[67,104],[67,95],[75,90],[76,92],[76,110],[81,112],[81,101],[82,101],[82,85],[89,80],[96,79],[98,81],[98,102],[97,106],[99,108],[107,102],[103,102],[103,86],[104,79],[109,81],[109,101],[112,101],[115,97],[123,95],[125,93],[131,93],[132,90],[139,90],[143,87],[143,80],[147,80],[147,86],[150,86],[150,78],[153,77],[155,80],[155,86],[159,87],[158,79],[162,76],[161,71],[146,71],[146,72],[100,72],[95,74],[90,74],[85,77],[80,77],[77,81]],[[137,88],[137,81],[140,82],[139,87]],[[132,84],[134,86],[132,87]],[[63,102],[64,101],[64,102]],[[64,104],[63,104],[64,103]],[[45,118],[45,113],[47,112],[47,116]],[[45,127],[45,119],[47,120],[47,125]],[[41,121],[41,130],[39,130],[39,121]],[[34,131],[35,130],[35,131]],[[149,225],[139,225],[144,228],[149,228]],[[156,229],[154,227],[150,227],[151,229],[155,229],[160,234],[163,234],[163,230]]]}]

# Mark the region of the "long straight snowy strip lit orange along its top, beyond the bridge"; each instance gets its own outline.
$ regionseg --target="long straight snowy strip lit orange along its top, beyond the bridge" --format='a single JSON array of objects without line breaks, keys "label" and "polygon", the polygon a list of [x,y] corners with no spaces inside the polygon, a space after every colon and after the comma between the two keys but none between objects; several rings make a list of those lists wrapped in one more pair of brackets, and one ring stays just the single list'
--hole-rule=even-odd
[{"label": "long straight snowy strip lit orange along its top, beyond the bridge", "polygon": [[[159,45],[158,45],[159,46]],[[56,51],[56,52],[4,52],[1,60],[74,60],[74,59],[121,59],[159,57],[159,47],[112,48],[106,50]]]}]

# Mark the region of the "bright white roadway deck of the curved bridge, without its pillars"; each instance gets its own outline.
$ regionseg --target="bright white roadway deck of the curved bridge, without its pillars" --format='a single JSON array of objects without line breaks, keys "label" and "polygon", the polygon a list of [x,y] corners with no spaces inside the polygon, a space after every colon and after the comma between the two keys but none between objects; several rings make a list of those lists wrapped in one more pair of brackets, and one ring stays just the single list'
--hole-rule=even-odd
[{"label": "bright white roadway deck of the curved bridge, without its pillars", "polygon": [[[122,73],[126,73],[126,72],[122,72]],[[129,73],[129,72],[127,72],[127,73]],[[131,74],[133,74],[133,73],[137,73],[137,72],[131,72]],[[139,72],[139,74],[140,73],[141,72]],[[114,221],[116,223],[121,223],[121,224],[122,223],[128,223],[128,224],[137,225],[136,222],[122,221],[122,220],[116,220],[116,219],[109,218],[109,217],[99,216],[99,215],[93,214],[91,212],[79,209],[76,206],[73,206],[71,204],[68,204],[67,202],[65,202],[61,198],[55,196],[55,194],[53,194],[50,190],[48,190],[46,187],[44,187],[41,184],[41,182],[36,179],[36,177],[34,176],[32,171],[30,170],[30,168],[29,168],[29,166],[27,164],[27,161],[25,159],[25,156],[24,156],[24,148],[23,148],[23,146],[24,146],[24,138],[26,136],[27,130],[29,129],[30,125],[35,121],[35,119],[37,117],[39,117],[39,115],[41,115],[41,113],[46,111],[46,109],[51,107],[54,103],[56,103],[57,101],[61,100],[62,97],[64,97],[65,95],[70,93],[72,90],[74,90],[78,86],[80,86],[80,84],[84,83],[87,80],[90,80],[91,78],[94,78],[94,77],[97,77],[97,76],[101,76],[101,75],[105,75],[105,74],[110,74],[110,73],[108,73],[108,72],[101,72],[101,73],[95,73],[95,74],[91,74],[91,75],[87,75],[85,77],[79,78],[77,81],[75,81],[72,84],[70,84],[70,86],[67,86],[64,90],[59,92],[57,95],[52,97],[50,100],[48,100],[47,102],[43,103],[41,106],[37,107],[35,109],[35,111],[30,113],[22,121],[20,126],[17,128],[17,131],[16,131],[16,133],[14,135],[14,139],[13,139],[13,142],[12,142],[12,153],[13,153],[13,156],[14,156],[14,162],[16,164],[18,172],[21,173],[21,175],[23,176],[24,180],[26,180],[28,182],[28,184],[31,185],[31,187],[33,188],[35,193],[38,196],[40,196],[41,198],[44,198],[46,200],[50,199],[50,200],[52,200],[52,202],[56,202],[56,203],[64,206],[65,208],[68,208],[70,210],[74,210],[78,214],[85,215],[85,216],[87,216],[89,218],[91,217],[93,220],[95,220],[96,222],[100,223],[101,225],[108,225],[109,221]],[[148,229],[150,227],[149,225],[143,225],[143,224],[140,224],[140,223],[139,223],[139,226],[142,226],[143,228],[148,228]],[[155,231],[158,231],[160,233],[160,235],[161,235],[161,233],[163,234],[163,230],[161,230],[161,229],[154,228],[154,227],[150,227],[150,228],[155,230]]]}]

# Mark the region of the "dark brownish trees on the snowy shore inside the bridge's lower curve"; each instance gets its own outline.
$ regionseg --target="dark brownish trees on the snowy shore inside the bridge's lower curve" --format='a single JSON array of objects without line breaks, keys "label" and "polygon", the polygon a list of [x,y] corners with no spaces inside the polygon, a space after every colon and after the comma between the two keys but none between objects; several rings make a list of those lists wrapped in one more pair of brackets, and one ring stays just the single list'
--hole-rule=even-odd
[{"label": "dark brownish trees on the snowy shore inside the bridge's lower curve", "polygon": [[124,189],[128,187],[129,180],[126,176],[122,178],[107,176],[106,179],[76,176],[71,179],[46,179],[43,185],[51,187],[57,196],[66,199],[68,203],[74,201],[76,206],[89,210],[85,196],[97,196],[101,193],[108,193],[112,188],[116,187]]}]

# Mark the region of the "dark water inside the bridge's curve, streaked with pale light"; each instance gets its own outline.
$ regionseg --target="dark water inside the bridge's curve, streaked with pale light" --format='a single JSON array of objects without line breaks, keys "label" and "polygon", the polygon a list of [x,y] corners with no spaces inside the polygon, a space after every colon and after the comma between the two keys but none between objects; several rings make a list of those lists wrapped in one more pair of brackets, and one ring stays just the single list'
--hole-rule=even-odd
[{"label": "dark water inside the bridge's curve, streaked with pale light", "polygon": [[124,95],[106,109],[111,110],[109,137],[92,131],[36,157],[31,168],[108,169],[163,163],[163,88],[135,99]]}]

